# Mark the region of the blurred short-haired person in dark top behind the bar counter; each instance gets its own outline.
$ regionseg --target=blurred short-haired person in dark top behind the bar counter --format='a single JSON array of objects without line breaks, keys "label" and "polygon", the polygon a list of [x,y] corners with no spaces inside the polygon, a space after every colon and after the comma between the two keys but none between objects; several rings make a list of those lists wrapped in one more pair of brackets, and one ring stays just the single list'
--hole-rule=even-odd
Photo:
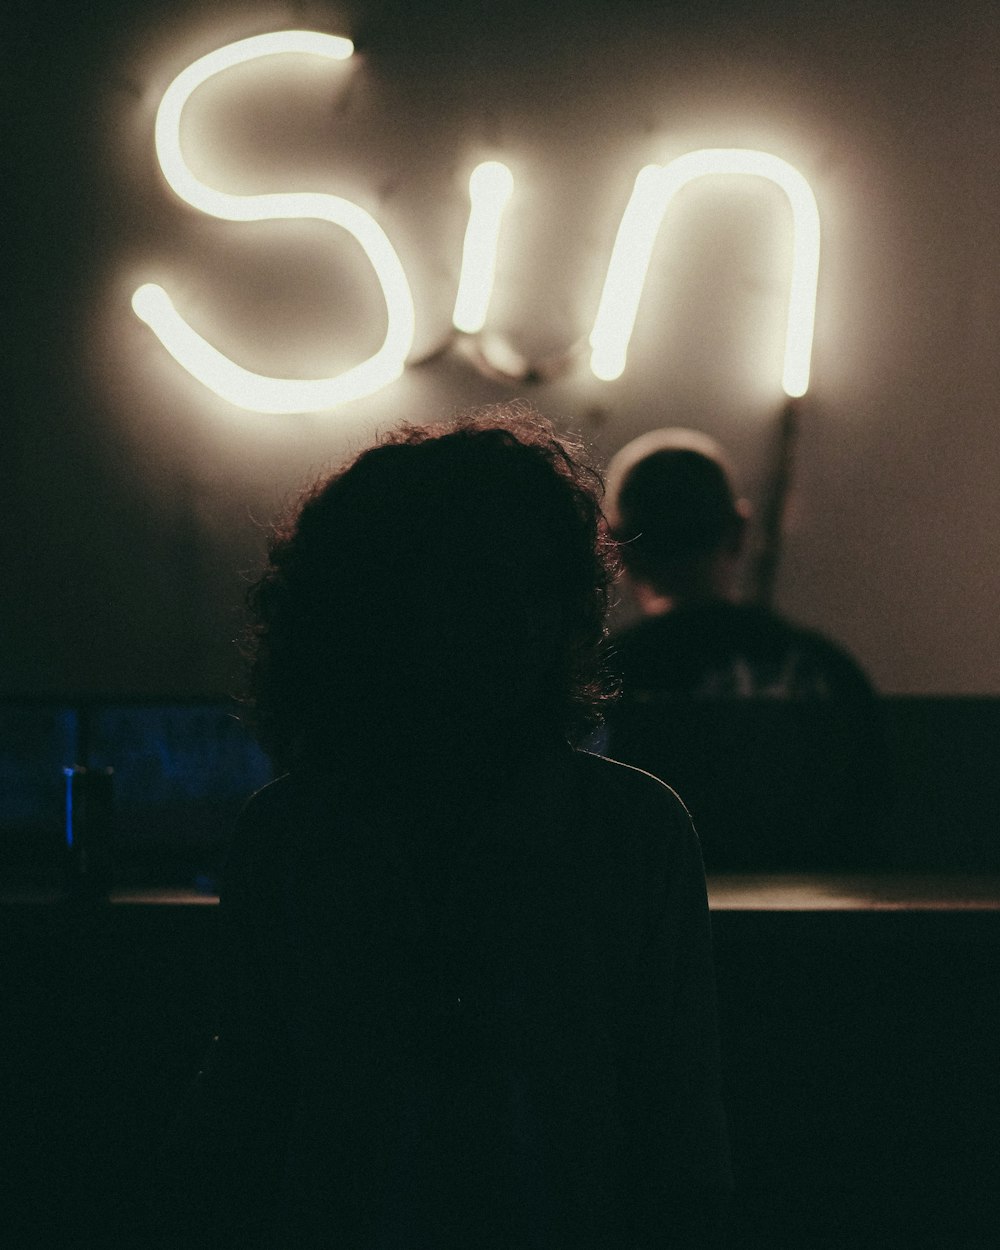
[{"label": "blurred short-haired person in dark top behind the bar counter", "polygon": [[640,610],[612,640],[606,751],[678,789],[710,870],[860,866],[882,806],[875,694],[842,648],[739,600],[749,508],[722,449],[634,440],[606,510]]}]

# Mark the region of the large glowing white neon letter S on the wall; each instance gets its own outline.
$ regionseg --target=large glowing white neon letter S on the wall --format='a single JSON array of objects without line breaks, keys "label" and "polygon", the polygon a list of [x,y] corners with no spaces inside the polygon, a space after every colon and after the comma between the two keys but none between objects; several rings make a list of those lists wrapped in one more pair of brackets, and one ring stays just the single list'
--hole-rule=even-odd
[{"label": "large glowing white neon letter S on the wall", "polygon": [[310,218],[329,221],[352,235],[375,270],[385,299],[389,324],[381,348],[368,360],[334,378],[268,378],[242,369],[201,338],[176,311],[161,286],[140,286],[132,296],[136,315],[188,372],[230,404],[255,412],[318,412],[371,395],[399,378],[414,340],[410,285],[395,249],[371,214],[350,200],[318,192],[229,195],[195,178],[184,159],[181,114],[192,92],[234,65],[288,52],[344,61],[352,55],[354,45],[336,35],[284,30],[242,39],[200,58],[174,79],[160,100],[156,111],[160,169],[181,200],[224,221]]}]

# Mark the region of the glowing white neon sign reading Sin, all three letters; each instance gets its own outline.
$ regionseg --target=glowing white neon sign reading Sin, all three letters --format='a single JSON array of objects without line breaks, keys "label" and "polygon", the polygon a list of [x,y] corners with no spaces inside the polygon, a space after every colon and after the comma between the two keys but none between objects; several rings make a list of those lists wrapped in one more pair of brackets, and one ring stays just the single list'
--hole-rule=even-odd
[{"label": "glowing white neon sign reading Sin, all three letters", "polygon": [[[334,378],[284,379],[251,372],[230,360],[194,330],[158,285],[140,286],[132,309],[171,356],[204,386],[238,408],[258,412],[316,412],[371,395],[402,372],[414,340],[414,301],[406,275],[381,226],[350,200],[318,192],[230,195],[200,181],[189,169],[180,144],[181,112],[191,94],[210,78],[246,61],[279,54],[345,61],[354,52],[348,39],[289,30],[258,35],[220,48],[189,65],[164,92],[156,112],[156,155],[164,178],[186,204],[226,221],[311,218],[351,234],[379,280],[388,312],[382,346],[360,365]],[[782,388],[804,395],[812,351],[820,225],[812,191],[786,161],[748,149],[704,149],[668,165],[640,170],[619,226],[594,329],[590,366],[610,381],[625,369],[639,301],[652,248],[666,209],[688,182],[709,174],[765,178],[785,191],[792,211],[792,271],[785,335]],[[476,334],[486,322],[492,294],[504,209],[514,191],[510,170],[499,161],[479,165],[470,179],[470,214],[452,324]]]}]

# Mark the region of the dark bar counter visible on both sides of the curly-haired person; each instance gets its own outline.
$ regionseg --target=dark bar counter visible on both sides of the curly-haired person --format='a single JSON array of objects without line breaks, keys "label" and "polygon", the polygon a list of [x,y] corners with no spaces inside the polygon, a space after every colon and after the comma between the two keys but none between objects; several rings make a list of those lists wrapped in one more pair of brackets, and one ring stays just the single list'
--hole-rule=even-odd
[{"label": "dark bar counter visible on both sides of the curly-haired person", "polygon": [[[141,1244],[211,1032],[218,909],[120,898],[0,909],[11,1246]],[[732,1250],[994,1246],[1000,882],[720,879],[712,902]]]}]

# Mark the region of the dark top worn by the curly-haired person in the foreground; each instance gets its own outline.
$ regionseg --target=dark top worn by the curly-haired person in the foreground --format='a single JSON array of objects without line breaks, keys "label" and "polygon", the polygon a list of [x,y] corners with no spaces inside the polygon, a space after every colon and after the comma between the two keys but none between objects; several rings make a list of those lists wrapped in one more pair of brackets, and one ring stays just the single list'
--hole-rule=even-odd
[{"label": "dark top worn by the curly-haired person in the foreground", "polygon": [[476,810],[349,790],[285,778],[239,822],[220,1032],[169,1151],[185,1244],[715,1245],[709,918],[676,796],[569,749]]}]

